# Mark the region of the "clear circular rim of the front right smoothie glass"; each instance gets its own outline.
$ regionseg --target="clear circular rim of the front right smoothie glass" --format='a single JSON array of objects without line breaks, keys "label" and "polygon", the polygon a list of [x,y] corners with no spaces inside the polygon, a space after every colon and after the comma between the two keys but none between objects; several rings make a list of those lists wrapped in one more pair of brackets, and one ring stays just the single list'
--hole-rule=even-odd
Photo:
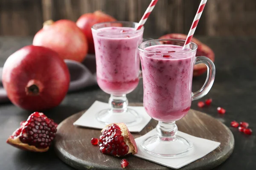
[{"label": "clear circular rim of the front right smoothie glass", "polygon": [[[195,42],[190,42],[190,43],[192,43],[192,45],[195,45],[195,48],[194,49],[191,49],[191,50],[189,50],[189,51],[180,51],[180,52],[173,52],[173,53],[171,53],[171,54],[167,54],[167,53],[156,53],[156,52],[154,52],[154,51],[147,51],[147,50],[145,50],[145,49],[143,49],[142,47],[141,47],[141,45],[143,45],[143,44],[145,44],[145,43],[147,43],[147,42],[156,42],[156,41],[180,41],[180,42],[184,42],[184,44],[185,44],[185,41],[186,40],[181,40],[181,39],[155,39],[155,40],[148,40],[148,41],[145,41],[145,42],[142,42],[142,43],[140,43],[140,45],[139,45],[139,50],[140,51],[143,51],[143,52],[146,52],[146,53],[150,53],[150,54],[164,54],[164,55],[173,55],[173,54],[184,54],[184,53],[188,53],[188,52],[194,52],[194,51],[197,51],[197,48],[198,48],[198,45],[196,45],[196,43]],[[162,44],[161,44],[162,45]],[[164,44],[163,44],[164,45]],[[166,44],[166,45],[168,45],[168,44]],[[154,45],[151,45],[151,46],[154,46]],[[182,47],[182,46],[181,46]]]}]

